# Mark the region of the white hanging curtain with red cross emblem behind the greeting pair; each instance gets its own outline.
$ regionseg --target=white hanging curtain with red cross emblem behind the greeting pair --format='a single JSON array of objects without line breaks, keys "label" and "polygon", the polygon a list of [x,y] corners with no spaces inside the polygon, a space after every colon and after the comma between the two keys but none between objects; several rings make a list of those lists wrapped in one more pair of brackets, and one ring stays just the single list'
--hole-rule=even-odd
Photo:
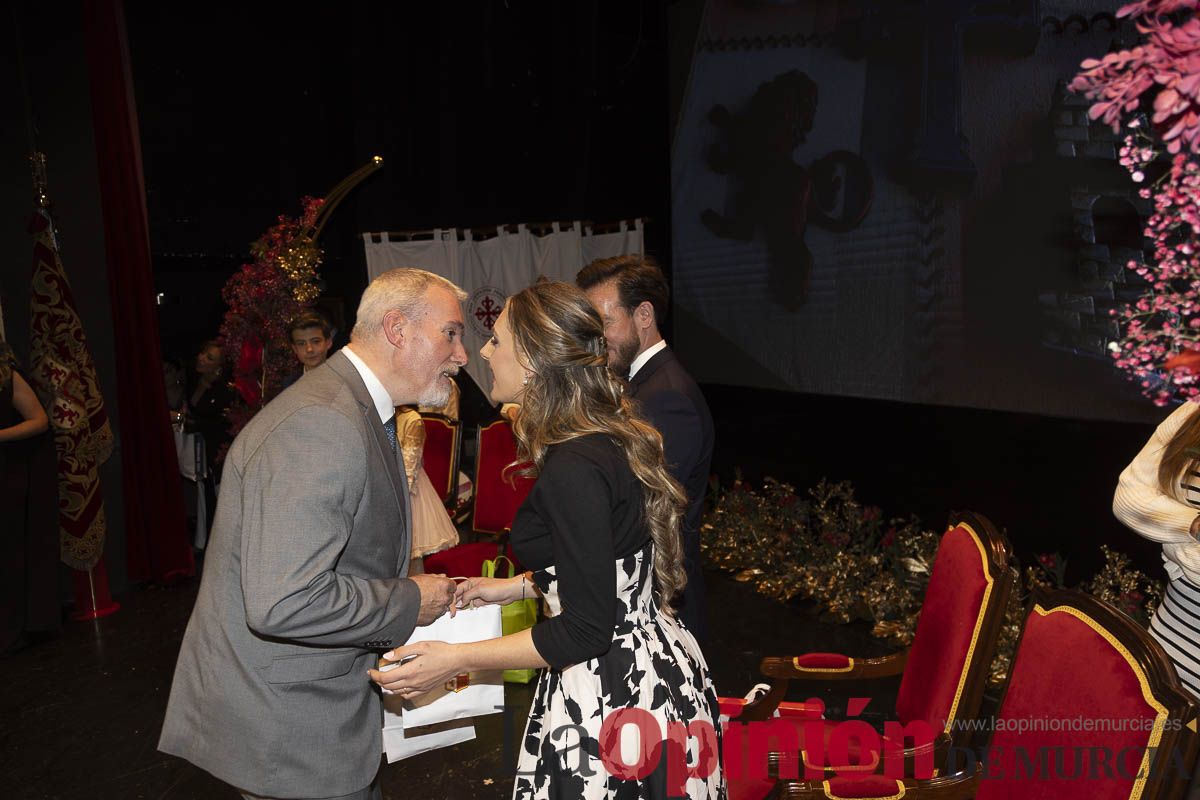
[{"label": "white hanging curtain with red cross emblem behind the greeting pair", "polygon": [[[374,241],[378,239],[379,241]],[[398,266],[418,266],[454,281],[467,291],[463,317],[467,332],[463,344],[470,361],[467,373],[484,393],[492,383],[479,349],[492,335],[492,324],[511,294],[526,288],[540,276],[574,283],[576,273],[598,258],[642,253],[642,221],[620,223],[620,230],[593,234],[580,222],[568,228],[554,223],[551,233],[535,236],[517,225],[516,233],[504,227],[497,235],[476,241],[470,230],[454,228],[433,231],[432,240],[391,241],[386,233],[362,234],[366,248],[367,277]]]}]

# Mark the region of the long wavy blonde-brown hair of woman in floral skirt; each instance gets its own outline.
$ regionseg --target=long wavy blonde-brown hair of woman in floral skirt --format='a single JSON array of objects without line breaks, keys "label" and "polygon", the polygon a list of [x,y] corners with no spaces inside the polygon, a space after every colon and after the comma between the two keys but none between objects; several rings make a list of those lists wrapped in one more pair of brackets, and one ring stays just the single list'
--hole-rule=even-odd
[{"label": "long wavy blonde-brown hair of woman in floral skirt", "polygon": [[620,445],[642,483],[659,607],[672,613],[688,581],[679,539],[686,495],[666,469],[661,434],[634,410],[623,381],[608,371],[600,314],[581,289],[545,279],[509,297],[508,312],[516,353],[533,373],[512,428],[517,458],[540,470],[547,447],[589,433]]}]

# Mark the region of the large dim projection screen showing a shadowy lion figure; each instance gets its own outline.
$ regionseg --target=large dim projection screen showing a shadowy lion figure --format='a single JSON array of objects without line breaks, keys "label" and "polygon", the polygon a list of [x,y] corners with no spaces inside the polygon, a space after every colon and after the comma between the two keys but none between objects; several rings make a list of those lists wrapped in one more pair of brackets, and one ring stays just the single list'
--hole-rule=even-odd
[{"label": "large dim projection screen showing a shadowy lion figure", "polygon": [[702,380],[1082,419],[1146,201],[1066,90],[1136,40],[1109,0],[709,0],[672,148],[680,351]]}]

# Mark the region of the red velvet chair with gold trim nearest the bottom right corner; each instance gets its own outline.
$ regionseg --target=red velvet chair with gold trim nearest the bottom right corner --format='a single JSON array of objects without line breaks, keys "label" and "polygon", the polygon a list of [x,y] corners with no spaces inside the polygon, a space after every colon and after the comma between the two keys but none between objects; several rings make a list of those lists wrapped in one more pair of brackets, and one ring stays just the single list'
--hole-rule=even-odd
[{"label": "red velvet chair with gold trim nearest the bottom right corner", "polygon": [[986,759],[976,769],[928,781],[786,782],[775,796],[1180,798],[1195,766],[1196,712],[1196,700],[1141,625],[1091,595],[1037,593]]}]

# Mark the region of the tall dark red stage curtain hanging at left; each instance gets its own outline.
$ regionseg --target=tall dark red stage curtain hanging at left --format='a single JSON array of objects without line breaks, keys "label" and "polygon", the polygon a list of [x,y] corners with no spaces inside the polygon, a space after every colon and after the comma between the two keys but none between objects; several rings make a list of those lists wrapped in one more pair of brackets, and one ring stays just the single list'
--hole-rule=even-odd
[{"label": "tall dark red stage curtain hanging at left", "polygon": [[121,0],[89,0],[83,10],[109,301],[118,342],[128,573],[134,581],[166,583],[194,575],[196,564],[167,416],[125,10]]}]

